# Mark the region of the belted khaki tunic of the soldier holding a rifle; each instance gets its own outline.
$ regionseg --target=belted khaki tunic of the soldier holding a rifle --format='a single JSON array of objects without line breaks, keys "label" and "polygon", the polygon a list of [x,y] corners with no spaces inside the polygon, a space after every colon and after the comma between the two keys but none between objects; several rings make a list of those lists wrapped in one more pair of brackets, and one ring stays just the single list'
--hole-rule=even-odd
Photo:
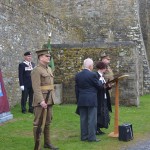
[{"label": "belted khaki tunic of the soldier holding a rifle", "polygon": [[33,107],[39,106],[39,104],[45,100],[49,89],[51,92],[47,104],[54,104],[54,76],[52,74],[51,68],[45,67],[42,64],[38,64],[33,69],[31,78],[34,91]]}]

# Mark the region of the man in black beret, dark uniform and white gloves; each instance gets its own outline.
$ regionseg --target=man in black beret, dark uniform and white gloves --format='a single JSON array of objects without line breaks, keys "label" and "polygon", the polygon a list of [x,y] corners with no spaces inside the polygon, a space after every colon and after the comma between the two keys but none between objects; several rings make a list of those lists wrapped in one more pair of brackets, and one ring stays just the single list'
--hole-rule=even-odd
[{"label": "man in black beret, dark uniform and white gloves", "polygon": [[33,89],[31,82],[31,71],[33,70],[35,64],[31,62],[32,56],[31,52],[24,53],[24,61],[19,64],[19,84],[22,91],[21,97],[21,109],[22,113],[26,113],[26,102],[29,96],[29,112],[33,113],[32,101],[33,101]]}]

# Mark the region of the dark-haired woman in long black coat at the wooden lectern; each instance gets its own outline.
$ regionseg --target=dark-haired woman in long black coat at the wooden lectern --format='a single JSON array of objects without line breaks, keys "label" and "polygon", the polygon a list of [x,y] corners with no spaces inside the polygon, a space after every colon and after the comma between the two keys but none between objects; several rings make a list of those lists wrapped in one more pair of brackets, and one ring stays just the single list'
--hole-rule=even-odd
[{"label": "dark-haired woman in long black coat at the wooden lectern", "polygon": [[111,108],[111,100],[109,95],[109,90],[111,89],[110,85],[106,84],[106,81],[103,77],[104,72],[107,70],[107,65],[104,62],[99,61],[96,64],[96,68],[98,69],[96,74],[99,78],[99,82],[103,84],[103,88],[97,93],[97,131],[96,134],[104,134],[100,130],[100,128],[108,128],[110,124],[110,115],[109,112],[112,112]]}]

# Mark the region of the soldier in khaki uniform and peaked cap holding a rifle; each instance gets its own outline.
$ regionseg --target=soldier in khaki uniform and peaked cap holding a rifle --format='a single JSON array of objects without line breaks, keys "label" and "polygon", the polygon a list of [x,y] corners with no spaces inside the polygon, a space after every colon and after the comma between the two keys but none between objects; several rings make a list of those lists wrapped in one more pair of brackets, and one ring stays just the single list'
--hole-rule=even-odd
[{"label": "soldier in khaki uniform and peaked cap holding a rifle", "polygon": [[[39,118],[42,112],[42,109],[47,109],[46,121],[44,124],[44,148],[49,148],[52,150],[57,150],[58,148],[54,147],[51,144],[50,140],[50,123],[52,120],[52,106],[54,104],[54,76],[52,74],[51,68],[48,66],[50,62],[50,53],[48,49],[36,51],[38,56],[38,65],[33,69],[31,73],[34,99],[34,122],[33,122],[33,132],[34,139],[36,139],[36,131],[39,125]],[[48,102],[45,103],[45,98],[47,96],[48,90],[50,90],[50,96]],[[39,139],[40,140],[40,139]]]}]

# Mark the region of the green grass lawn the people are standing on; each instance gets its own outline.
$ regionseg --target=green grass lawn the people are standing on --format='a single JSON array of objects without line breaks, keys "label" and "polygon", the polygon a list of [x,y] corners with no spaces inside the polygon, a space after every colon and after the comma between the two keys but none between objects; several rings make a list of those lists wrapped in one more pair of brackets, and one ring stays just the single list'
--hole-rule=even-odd
[{"label": "green grass lawn the people are standing on", "polygon": [[[51,124],[52,143],[60,150],[120,150],[122,147],[136,143],[141,138],[148,137],[150,133],[149,108],[150,95],[140,98],[139,107],[121,106],[119,108],[119,124],[132,123],[133,140],[122,142],[117,138],[108,137],[114,129],[113,107],[109,129],[103,130],[105,135],[97,136],[101,142],[88,143],[80,141],[80,123],[79,116],[75,114],[76,105],[55,105]],[[11,112],[14,118],[0,125],[0,150],[33,150],[33,115],[22,114],[20,105],[11,108]]]}]

